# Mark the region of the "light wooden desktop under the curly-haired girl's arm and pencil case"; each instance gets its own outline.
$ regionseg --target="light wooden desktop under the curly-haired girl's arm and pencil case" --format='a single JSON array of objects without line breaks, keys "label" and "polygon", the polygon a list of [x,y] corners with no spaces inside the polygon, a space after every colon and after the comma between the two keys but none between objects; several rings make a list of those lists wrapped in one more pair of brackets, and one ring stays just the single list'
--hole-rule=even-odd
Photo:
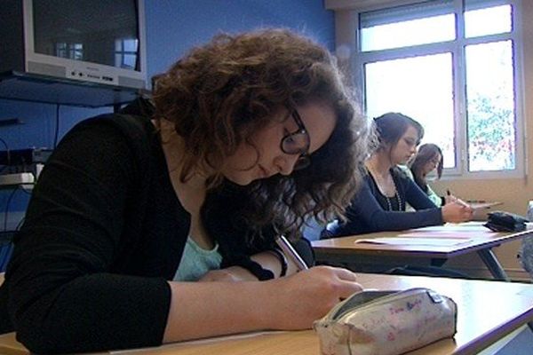
[{"label": "light wooden desktop under the curly-haired girl's arm and pencil case", "polygon": [[[533,320],[533,285],[486,280],[457,280],[413,276],[359,274],[365,288],[433,288],[457,303],[457,335],[430,344],[410,355],[473,354]],[[497,292],[495,292],[497,290]],[[11,349],[5,347],[11,343]],[[4,348],[3,348],[4,344]],[[6,351],[7,349],[7,351]],[[0,335],[0,352],[27,354],[14,335]],[[141,351],[111,351],[135,355],[318,355],[312,330],[214,338],[173,343]]]}]

